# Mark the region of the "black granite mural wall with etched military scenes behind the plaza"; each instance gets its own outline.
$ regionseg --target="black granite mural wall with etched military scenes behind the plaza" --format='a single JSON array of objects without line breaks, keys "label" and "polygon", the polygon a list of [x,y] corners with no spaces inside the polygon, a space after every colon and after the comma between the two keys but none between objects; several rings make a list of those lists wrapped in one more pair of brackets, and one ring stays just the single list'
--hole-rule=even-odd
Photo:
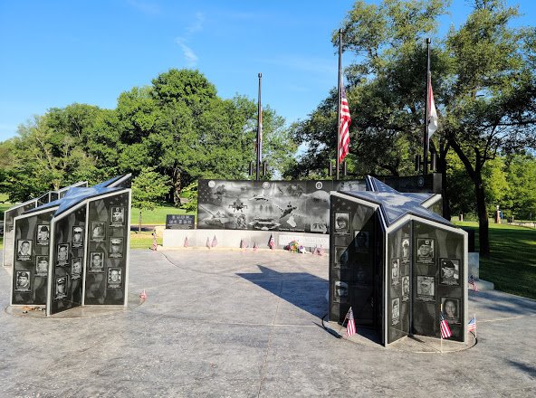
[{"label": "black granite mural wall with etched military scenes behind the plaza", "polygon": [[197,228],[329,233],[330,191],[364,181],[200,180]]}]

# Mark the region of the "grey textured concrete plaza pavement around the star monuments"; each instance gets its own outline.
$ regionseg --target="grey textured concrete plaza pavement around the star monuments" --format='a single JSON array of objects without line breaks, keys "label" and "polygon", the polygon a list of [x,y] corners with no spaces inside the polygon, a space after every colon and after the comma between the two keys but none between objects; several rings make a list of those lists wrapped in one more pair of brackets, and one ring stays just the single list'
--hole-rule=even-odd
[{"label": "grey textured concrete plaza pavement around the star monuments", "polygon": [[10,281],[0,397],[536,396],[536,301],[499,291],[470,291],[478,344],[440,354],[327,333],[327,256],[132,250],[128,308],[50,318]]}]

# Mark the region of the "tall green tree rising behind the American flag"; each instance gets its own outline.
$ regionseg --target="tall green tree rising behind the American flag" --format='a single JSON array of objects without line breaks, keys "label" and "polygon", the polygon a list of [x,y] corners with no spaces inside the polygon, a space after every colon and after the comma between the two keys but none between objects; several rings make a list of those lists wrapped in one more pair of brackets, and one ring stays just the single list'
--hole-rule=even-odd
[{"label": "tall green tree rising behind the American flag", "polygon": [[[357,1],[342,22],[343,51],[356,54],[345,71],[352,116],[350,175],[414,173],[413,154],[422,146],[426,86],[422,38],[434,32],[436,17],[445,13],[447,4]],[[332,40],[339,46],[338,32]],[[435,69],[445,70],[445,54],[433,55]],[[335,156],[336,131],[337,90],[331,90],[311,117],[294,128],[296,139],[309,145],[292,175],[320,175]]]}]

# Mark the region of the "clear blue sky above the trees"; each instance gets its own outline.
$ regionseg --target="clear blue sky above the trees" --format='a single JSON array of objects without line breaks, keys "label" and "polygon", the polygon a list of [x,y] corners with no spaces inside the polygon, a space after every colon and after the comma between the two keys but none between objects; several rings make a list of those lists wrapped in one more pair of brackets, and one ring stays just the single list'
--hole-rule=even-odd
[{"label": "clear blue sky above the trees", "polygon": [[[337,83],[330,43],[353,0],[0,0],[0,141],[46,109],[115,108],[120,93],[170,68],[195,68],[218,94],[257,98],[292,122]],[[533,0],[509,0],[534,24]],[[454,0],[442,28],[459,24]],[[343,62],[351,62],[345,55]]]}]

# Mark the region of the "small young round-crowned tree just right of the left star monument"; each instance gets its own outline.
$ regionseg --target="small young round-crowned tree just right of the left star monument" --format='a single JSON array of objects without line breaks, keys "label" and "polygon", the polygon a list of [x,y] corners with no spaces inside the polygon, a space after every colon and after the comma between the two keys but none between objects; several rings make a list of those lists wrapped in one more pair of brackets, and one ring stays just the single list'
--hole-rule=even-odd
[{"label": "small young round-crowned tree just right of the left star monument", "polygon": [[142,210],[154,210],[158,199],[169,192],[168,176],[146,167],[132,180],[132,206],[139,210],[138,232],[141,232]]}]

